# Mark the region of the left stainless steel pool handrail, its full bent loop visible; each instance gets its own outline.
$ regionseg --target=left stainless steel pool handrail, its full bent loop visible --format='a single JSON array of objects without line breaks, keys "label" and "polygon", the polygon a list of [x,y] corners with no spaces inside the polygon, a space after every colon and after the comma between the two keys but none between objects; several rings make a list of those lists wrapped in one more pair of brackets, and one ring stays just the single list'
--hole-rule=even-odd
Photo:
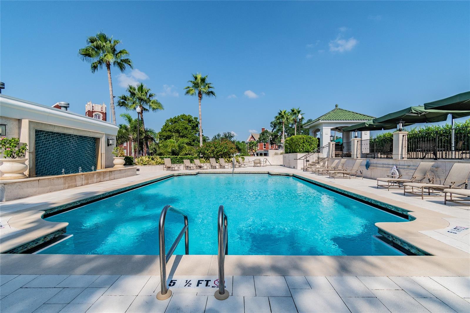
[{"label": "left stainless steel pool handrail, its full bent loop visible", "polygon": [[[180,234],[176,237],[176,240],[172,244],[170,250],[165,255],[165,217],[166,212],[172,211],[178,213],[184,218],[184,227],[181,229]],[[176,246],[180,243],[181,238],[184,234],[185,252],[189,254],[189,237],[188,237],[188,216],[182,211],[173,208],[171,205],[165,205],[162,212],[160,213],[160,222],[158,224],[158,241],[160,243],[160,286],[161,290],[157,293],[158,300],[165,300],[172,296],[172,291],[166,287],[166,263],[171,258]]]}]

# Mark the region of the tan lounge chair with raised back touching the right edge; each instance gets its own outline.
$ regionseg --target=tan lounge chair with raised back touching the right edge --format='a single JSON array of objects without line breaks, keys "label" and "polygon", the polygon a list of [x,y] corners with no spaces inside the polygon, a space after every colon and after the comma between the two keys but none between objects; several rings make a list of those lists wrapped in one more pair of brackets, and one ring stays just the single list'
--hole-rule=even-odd
[{"label": "tan lounge chair with raised back touching the right edge", "polygon": [[[441,190],[441,192],[443,192],[444,189],[452,189],[452,188],[463,189],[465,188],[465,184],[467,184],[467,179],[469,175],[470,175],[470,163],[454,163],[454,165],[452,165],[442,185],[406,182],[406,183],[403,183],[403,195],[406,194],[407,187],[411,187],[411,192],[415,192],[414,188],[421,189],[421,199],[424,199],[425,188],[428,188],[428,195],[431,195],[431,189],[433,190],[433,192],[435,189]],[[442,179],[437,179],[437,180],[442,180]]]}]

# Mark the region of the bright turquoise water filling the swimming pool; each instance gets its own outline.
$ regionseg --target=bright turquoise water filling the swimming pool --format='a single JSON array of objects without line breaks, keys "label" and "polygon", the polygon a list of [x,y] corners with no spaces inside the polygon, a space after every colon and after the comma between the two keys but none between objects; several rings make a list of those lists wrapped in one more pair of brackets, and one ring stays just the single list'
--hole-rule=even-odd
[{"label": "bright turquoise water filling the swimming pool", "polygon": [[[217,254],[217,213],[228,216],[228,253],[240,255],[397,255],[377,240],[375,222],[393,214],[309,182],[267,174],[199,174],[162,180],[46,220],[73,235],[40,253],[158,254],[166,204],[188,214],[189,253]],[[167,249],[183,225],[169,212]],[[184,239],[175,254],[184,254]]]}]

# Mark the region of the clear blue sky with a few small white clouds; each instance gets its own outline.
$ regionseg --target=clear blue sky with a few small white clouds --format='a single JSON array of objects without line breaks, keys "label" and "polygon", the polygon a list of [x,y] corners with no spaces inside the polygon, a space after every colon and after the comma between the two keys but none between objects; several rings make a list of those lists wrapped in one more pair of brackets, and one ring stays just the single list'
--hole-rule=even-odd
[{"label": "clear blue sky with a few small white clouds", "polygon": [[316,118],[337,103],[378,117],[470,90],[469,1],[1,1],[0,12],[4,94],[77,113],[109,104],[106,71],[78,57],[103,31],[140,71],[113,69],[114,94],[148,85],[165,107],[146,115],[156,131],[197,116],[183,87],[198,71],[217,93],[202,102],[204,134],[241,140],[280,109]]}]

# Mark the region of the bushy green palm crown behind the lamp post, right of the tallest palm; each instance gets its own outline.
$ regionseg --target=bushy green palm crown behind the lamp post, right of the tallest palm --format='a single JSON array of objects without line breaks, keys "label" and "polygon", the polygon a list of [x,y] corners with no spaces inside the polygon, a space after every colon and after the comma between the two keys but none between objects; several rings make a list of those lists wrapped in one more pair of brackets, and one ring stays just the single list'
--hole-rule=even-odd
[{"label": "bushy green palm crown behind the lamp post, right of the tallest palm", "polygon": [[128,85],[126,92],[129,95],[123,94],[119,96],[118,107],[132,111],[136,110],[137,107],[140,107],[142,128],[144,129],[144,112],[164,110],[163,105],[157,99],[154,99],[155,94],[151,93],[150,88],[147,88],[147,86],[142,83],[137,87]]}]

